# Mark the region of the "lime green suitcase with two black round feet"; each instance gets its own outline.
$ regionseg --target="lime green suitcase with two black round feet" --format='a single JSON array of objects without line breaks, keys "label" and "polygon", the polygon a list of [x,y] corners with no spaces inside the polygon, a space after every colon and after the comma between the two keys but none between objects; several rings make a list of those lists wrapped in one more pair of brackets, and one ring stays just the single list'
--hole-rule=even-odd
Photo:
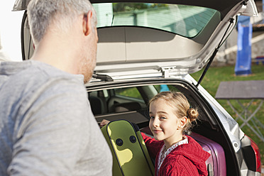
[{"label": "lime green suitcase with two black round feet", "polygon": [[138,126],[126,120],[101,128],[113,155],[113,175],[155,175],[155,169]]}]

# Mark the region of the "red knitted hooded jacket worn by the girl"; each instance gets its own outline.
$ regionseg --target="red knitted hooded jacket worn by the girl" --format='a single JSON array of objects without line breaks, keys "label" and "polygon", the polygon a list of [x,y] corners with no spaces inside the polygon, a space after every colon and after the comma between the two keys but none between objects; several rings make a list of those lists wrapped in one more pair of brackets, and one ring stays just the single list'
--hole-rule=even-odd
[{"label": "red knitted hooded jacket worn by the girl", "polygon": [[151,158],[155,160],[155,175],[158,176],[192,176],[192,175],[208,175],[207,165],[205,161],[209,158],[209,153],[204,151],[190,136],[187,136],[188,143],[179,145],[177,148],[172,150],[169,155],[163,161],[163,164],[158,170],[158,154],[164,145],[163,141],[155,141],[154,138],[146,136],[141,133],[145,145],[148,148]]}]

